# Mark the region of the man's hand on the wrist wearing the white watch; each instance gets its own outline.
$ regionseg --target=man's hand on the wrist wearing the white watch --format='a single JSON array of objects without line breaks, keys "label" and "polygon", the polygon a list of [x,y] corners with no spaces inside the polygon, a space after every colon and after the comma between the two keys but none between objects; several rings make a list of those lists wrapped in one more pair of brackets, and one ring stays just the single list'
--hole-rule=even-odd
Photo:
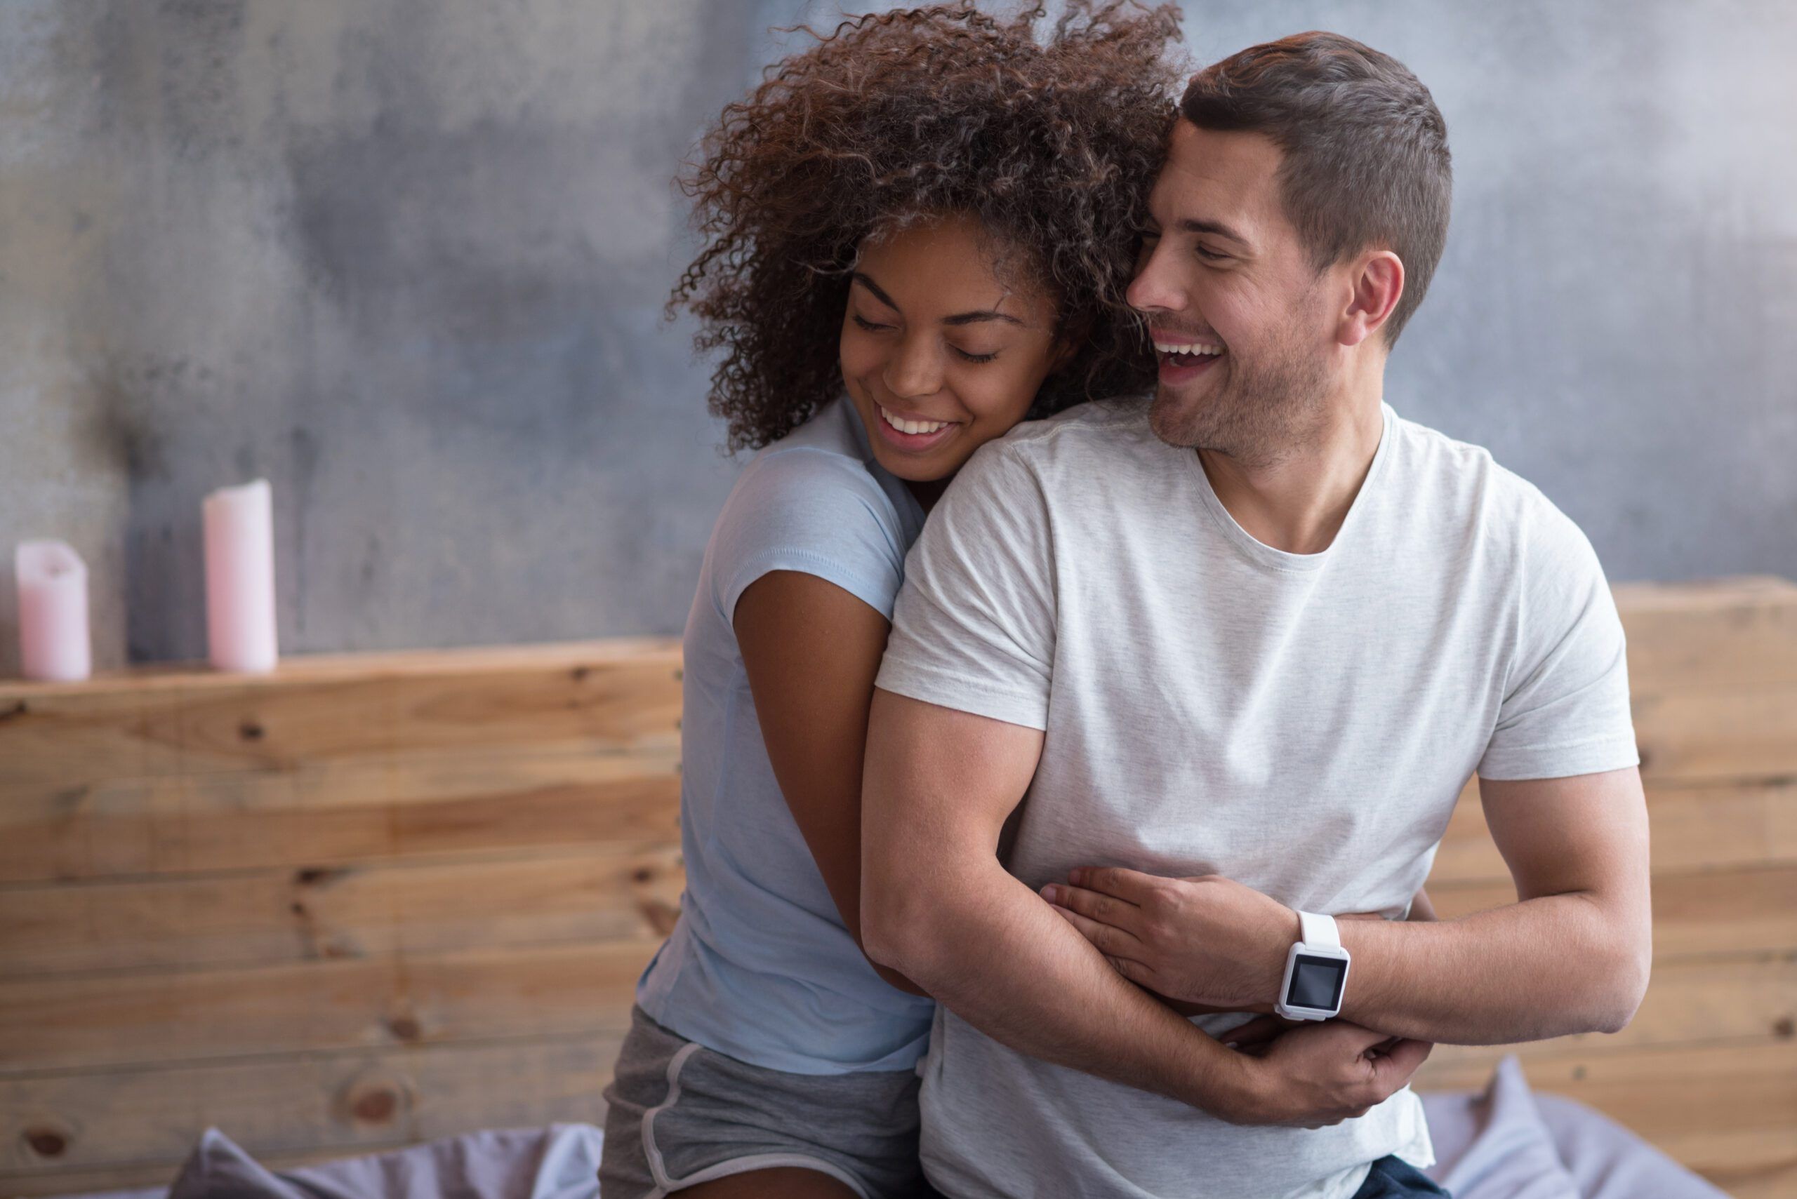
[{"label": "man's hand on the wrist wearing the white watch", "polygon": [[[1184,1005],[1270,1012],[1297,912],[1220,874],[1161,878],[1082,867],[1042,897],[1130,982]],[[1380,919],[1350,912],[1337,919]],[[1179,1011],[1191,1014],[1188,1007]]]}]

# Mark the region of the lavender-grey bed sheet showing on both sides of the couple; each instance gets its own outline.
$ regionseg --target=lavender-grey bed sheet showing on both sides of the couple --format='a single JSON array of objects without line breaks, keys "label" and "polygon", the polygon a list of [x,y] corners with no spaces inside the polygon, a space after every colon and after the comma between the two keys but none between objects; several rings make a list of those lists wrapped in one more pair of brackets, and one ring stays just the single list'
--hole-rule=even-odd
[{"label": "lavender-grey bed sheet showing on both sides of the couple", "polygon": [[[1454,1199],[1727,1199],[1603,1113],[1535,1095],[1515,1054],[1483,1090],[1429,1091],[1423,1107],[1429,1176]],[[552,1124],[268,1170],[207,1129],[173,1185],[79,1199],[597,1199],[602,1143],[591,1124]]]}]

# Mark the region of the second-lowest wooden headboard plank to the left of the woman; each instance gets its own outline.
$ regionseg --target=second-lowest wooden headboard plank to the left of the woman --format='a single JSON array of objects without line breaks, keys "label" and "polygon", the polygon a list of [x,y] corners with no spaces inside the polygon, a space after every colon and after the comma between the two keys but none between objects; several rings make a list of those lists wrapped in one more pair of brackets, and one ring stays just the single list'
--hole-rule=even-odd
[{"label": "second-lowest wooden headboard plank to the left of the woman", "polygon": [[0,980],[0,1077],[257,1054],[625,1032],[661,944],[498,946],[235,969]]}]

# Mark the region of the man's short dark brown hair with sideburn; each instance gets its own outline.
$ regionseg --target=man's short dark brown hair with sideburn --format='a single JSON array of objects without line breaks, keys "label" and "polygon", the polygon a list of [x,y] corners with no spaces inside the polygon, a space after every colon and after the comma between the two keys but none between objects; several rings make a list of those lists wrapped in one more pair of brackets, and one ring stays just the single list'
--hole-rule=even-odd
[{"label": "man's short dark brown hair with sideburn", "polygon": [[1398,255],[1396,343],[1441,260],[1454,190],[1447,122],[1411,68],[1353,38],[1292,34],[1206,66],[1179,109],[1279,145],[1279,197],[1315,269],[1369,248]]}]

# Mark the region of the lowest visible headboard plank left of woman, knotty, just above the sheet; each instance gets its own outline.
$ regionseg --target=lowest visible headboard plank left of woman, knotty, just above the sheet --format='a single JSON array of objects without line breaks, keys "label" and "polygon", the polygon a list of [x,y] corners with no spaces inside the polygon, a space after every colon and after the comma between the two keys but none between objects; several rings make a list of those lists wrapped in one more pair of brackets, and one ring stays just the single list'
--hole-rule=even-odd
[{"label": "lowest visible headboard plank left of woman, knotty, just above the sheet", "polygon": [[602,1124],[600,1091],[620,1043],[616,1032],[593,1030],[4,1077],[0,1194],[63,1170],[162,1163],[165,1177],[208,1125],[261,1158],[347,1156],[483,1127]]}]

